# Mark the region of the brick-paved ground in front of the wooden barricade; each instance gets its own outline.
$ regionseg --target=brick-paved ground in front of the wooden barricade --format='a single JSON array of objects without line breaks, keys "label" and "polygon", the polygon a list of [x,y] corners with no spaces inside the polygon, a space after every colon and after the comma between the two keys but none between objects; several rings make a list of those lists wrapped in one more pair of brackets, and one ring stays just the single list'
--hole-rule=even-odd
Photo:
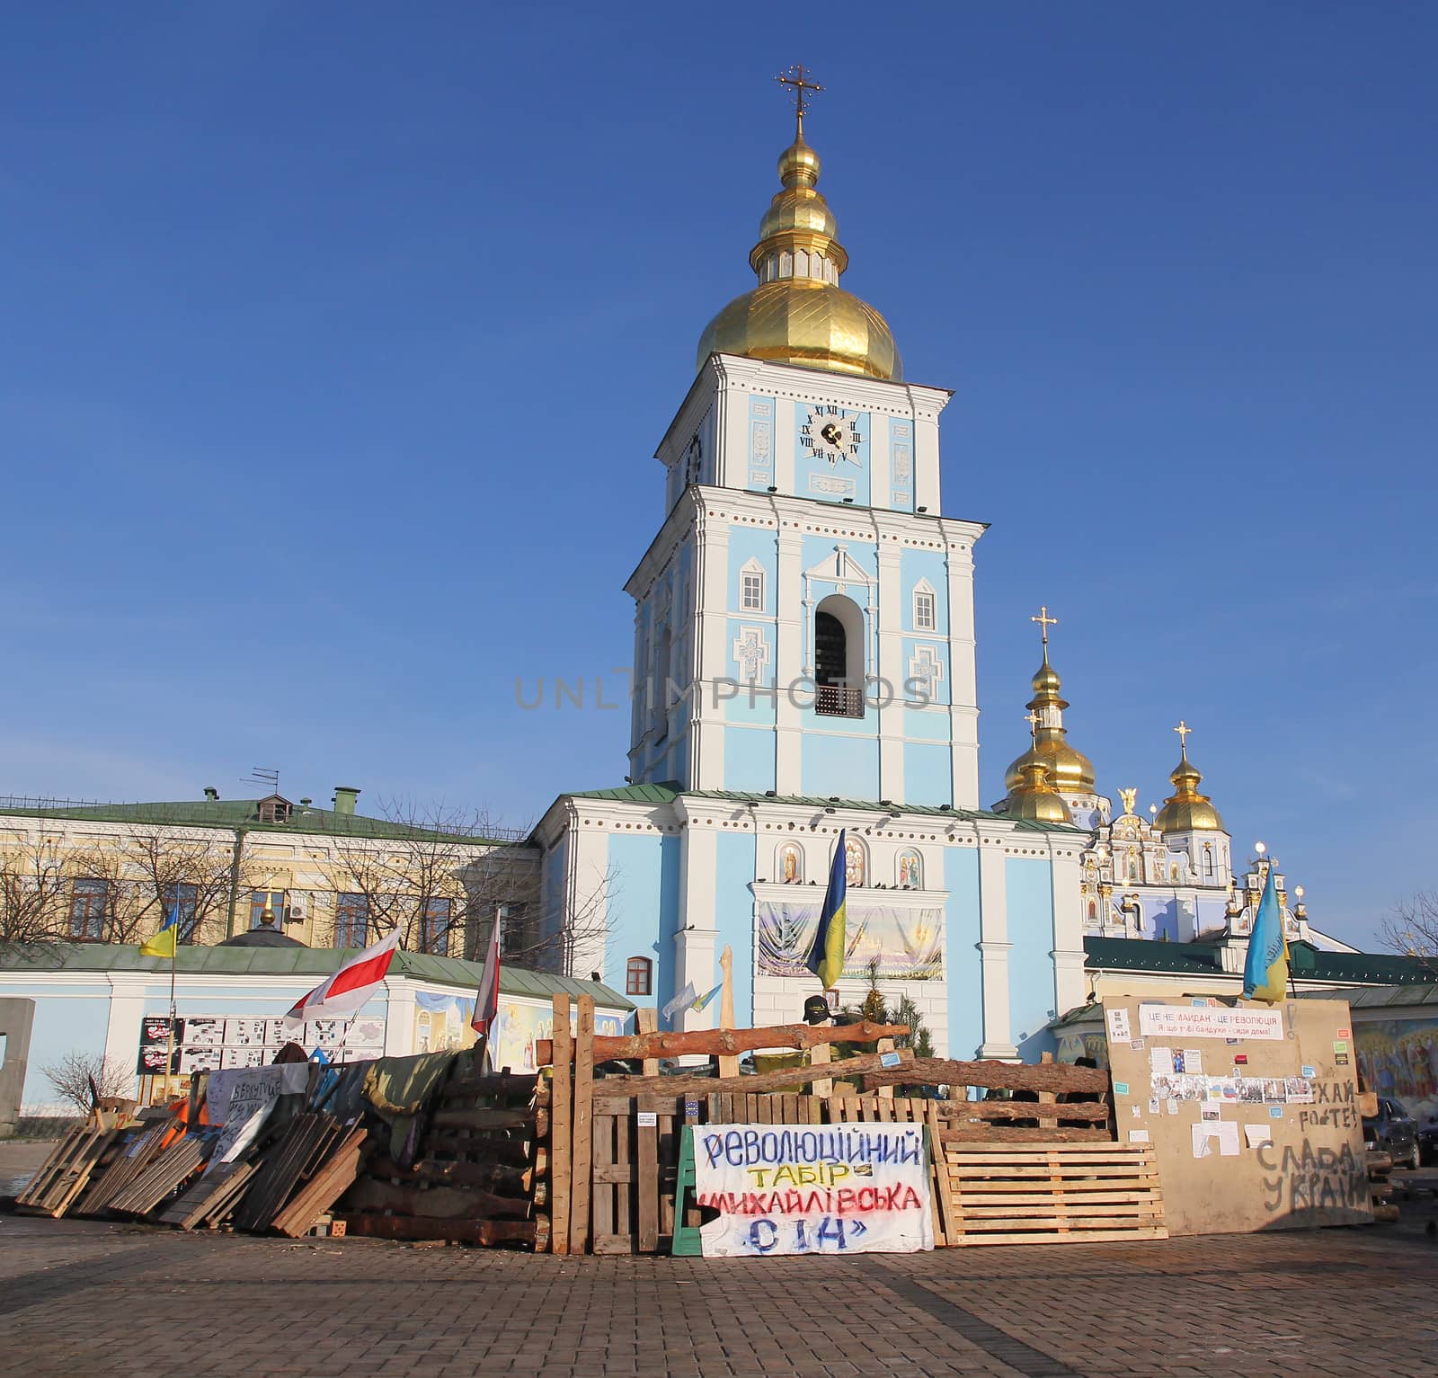
[{"label": "brick-paved ground in front of the wooden barricade", "polygon": [[853,1259],[554,1259],[0,1217],[0,1374],[1438,1372],[1422,1230]]}]

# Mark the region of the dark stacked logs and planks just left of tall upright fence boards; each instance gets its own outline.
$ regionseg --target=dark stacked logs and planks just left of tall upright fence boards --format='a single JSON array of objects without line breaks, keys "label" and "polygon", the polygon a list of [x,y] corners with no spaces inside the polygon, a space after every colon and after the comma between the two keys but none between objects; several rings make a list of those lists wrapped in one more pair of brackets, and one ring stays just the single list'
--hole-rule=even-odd
[{"label": "dark stacked logs and planks just left of tall upright fence boards", "polygon": [[[347,1234],[472,1244],[548,1241],[549,1083],[454,1059],[413,1165],[371,1158],[339,1201]],[[544,1244],[539,1244],[544,1247]]]}]

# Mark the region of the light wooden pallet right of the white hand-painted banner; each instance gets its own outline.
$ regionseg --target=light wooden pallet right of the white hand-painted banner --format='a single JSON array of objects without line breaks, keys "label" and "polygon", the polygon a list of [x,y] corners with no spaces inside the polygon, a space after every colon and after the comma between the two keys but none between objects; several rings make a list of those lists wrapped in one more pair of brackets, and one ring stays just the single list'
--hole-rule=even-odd
[{"label": "light wooden pallet right of the white hand-painted banner", "polygon": [[943,1133],[952,1244],[1168,1238],[1148,1144],[1001,1145]]}]

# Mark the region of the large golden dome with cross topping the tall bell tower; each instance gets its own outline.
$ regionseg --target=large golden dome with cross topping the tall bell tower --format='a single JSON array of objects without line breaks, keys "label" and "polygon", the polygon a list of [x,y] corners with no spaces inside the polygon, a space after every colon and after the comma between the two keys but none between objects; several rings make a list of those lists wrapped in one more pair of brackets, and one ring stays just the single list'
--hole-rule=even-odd
[{"label": "large golden dome with cross topping the tall bell tower", "polygon": [[710,354],[742,354],[897,383],[903,364],[889,322],[838,285],[848,255],[838,242],[834,213],[815,190],[818,154],[804,141],[804,111],[824,88],[802,66],[789,68],[778,81],[794,91],[798,122],[794,142],[779,154],[782,190],[749,250],[759,285],[709,322],[695,367],[703,368]]}]

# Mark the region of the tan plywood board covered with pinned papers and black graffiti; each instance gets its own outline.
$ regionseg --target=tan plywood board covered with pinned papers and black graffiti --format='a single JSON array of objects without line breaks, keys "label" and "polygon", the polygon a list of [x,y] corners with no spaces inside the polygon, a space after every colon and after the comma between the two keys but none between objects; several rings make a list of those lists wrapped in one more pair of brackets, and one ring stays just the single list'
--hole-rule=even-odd
[{"label": "tan plywood board covered with pinned papers and black graffiti", "polygon": [[1169,1234],[1368,1224],[1342,1000],[1103,1001],[1123,1144],[1152,1144]]}]

